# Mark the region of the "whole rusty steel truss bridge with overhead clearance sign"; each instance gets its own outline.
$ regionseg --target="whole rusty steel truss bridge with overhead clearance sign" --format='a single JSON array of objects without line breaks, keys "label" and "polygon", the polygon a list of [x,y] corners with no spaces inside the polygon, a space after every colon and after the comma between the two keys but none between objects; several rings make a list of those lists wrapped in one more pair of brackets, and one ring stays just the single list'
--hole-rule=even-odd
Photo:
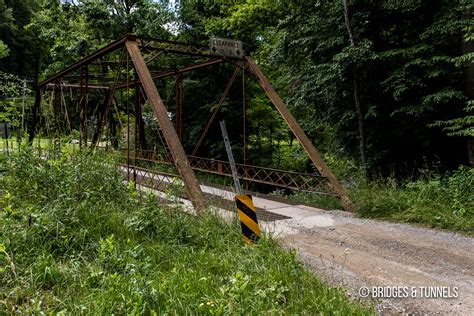
[{"label": "whole rusty steel truss bridge with overhead clearance sign", "polygon": [[[189,63],[180,66],[164,67],[162,62],[165,56],[186,56]],[[235,67],[229,78],[227,86],[219,98],[217,105],[209,115],[209,120],[203,128],[199,140],[192,152],[186,154],[181,139],[183,137],[182,123],[182,76],[191,71],[213,67],[218,64],[228,63]],[[166,65],[165,65],[166,66]],[[302,190],[307,192],[332,194],[339,198],[341,205],[348,211],[354,211],[354,206],[341,184],[326,165],[320,154],[303,132],[295,118],[289,112],[282,99],[278,96],[264,73],[250,56],[225,57],[216,56],[208,46],[193,45],[173,41],[164,41],[153,38],[127,35],[104,48],[90,54],[51,75],[40,82],[36,89],[35,104],[33,107],[33,124],[30,129],[30,141],[36,133],[41,132],[42,126],[54,125],[55,136],[60,137],[64,129],[71,131],[78,118],[80,134],[79,145],[83,148],[101,147],[101,139],[110,139],[112,130],[107,122],[114,118],[119,120],[122,129],[127,130],[126,148],[115,150],[120,152],[122,161],[127,166],[127,177],[130,170],[138,182],[150,181],[150,174],[157,179],[162,176],[179,177],[195,208],[199,211],[206,206],[195,172],[203,172],[216,176],[231,176],[229,163],[206,157],[199,157],[199,148],[226,98],[230,87],[239,72],[249,73],[255,78],[259,86],[266,93],[274,108],[283,118],[292,131],[307,156],[315,166],[317,173],[299,173],[259,167],[247,162],[247,135],[246,135],[246,108],[244,104],[244,161],[237,164],[240,177],[248,182],[272,185],[279,188]],[[173,119],[165,106],[155,82],[163,78],[175,78],[175,100]],[[118,110],[118,93],[130,94],[133,91],[133,105],[126,102],[126,124],[120,121]],[[45,94],[50,93],[49,104]],[[64,94],[76,100],[76,108],[68,110]],[[100,96],[102,101],[91,108],[90,97]],[[162,140],[163,150],[160,153],[148,151],[143,146],[144,122],[142,109],[145,103],[153,111],[157,124],[157,133]],[[53,113],[53,122],[48,121],[44,113],[47,110]],[[131,135],[130,115],[133,115],[135,126]],[[76,118],[73,120],[72,118]],[[125,126],[126,125],[126,126]],[[88,131],[93,130],[93,133]],[[88,135],[92,134],[91,137]],[[130,139],[134,138],[134,144]],[[157,165],[165,166],[158,168]],[[133,166],[133,168],[130,168]],[[152,167],[153,166],[153,167]],[[166,166],[173,169],[169,173]],[[153,173],[151,173],[153,171]],[[147,177],[144,174],[147,173]],[[154,177],[154,176],[153,176]],[[140,180],[141,179],[141,180]],[[159,183],[151,179],[153,183]],[[163,181],[161,181],[163,182]]]}]

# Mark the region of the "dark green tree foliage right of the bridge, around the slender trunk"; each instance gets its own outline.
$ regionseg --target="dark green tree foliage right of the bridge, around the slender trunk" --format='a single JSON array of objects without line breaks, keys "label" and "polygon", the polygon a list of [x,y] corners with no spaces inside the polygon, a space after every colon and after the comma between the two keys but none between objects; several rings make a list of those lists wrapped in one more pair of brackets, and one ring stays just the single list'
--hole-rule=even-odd
[{"label": "dark green tree foliage right of the bridge, around the slender trunk", "polygon": [[469,120],[462,111],[467,101],[462,67],[472,52],[461,50],[461,35],[472,25],[462,18],[469,3],[351,1],[349,7],[355,47],[340,1],[209,5],[200,31],[244,39],[305,131],[319,140],[317,127],[332,127],[323,147],[351,157],[358,153],[355,69],[371,170],[406,168],[426,157],[458,163],[448,153],[460,145],[439,129],[451,123],[435,122],[453,119],[466,126]]}]

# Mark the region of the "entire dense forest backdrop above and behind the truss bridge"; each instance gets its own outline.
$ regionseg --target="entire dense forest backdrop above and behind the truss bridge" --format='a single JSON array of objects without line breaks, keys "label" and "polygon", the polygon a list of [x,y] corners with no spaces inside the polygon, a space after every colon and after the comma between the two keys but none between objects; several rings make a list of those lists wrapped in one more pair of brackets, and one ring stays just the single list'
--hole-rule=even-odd
[{"label": "entire dense forest backdrop above and behind the truss bridge", "polygon": [[[2,98],[124,34],[235,38],[321,150],[369,174],[453,169],[474,159],[471,10],[470,1],[1,0]],[[188,107],[222,89],[206,75],[189,79],[209,82],[188,93]],[[250,134],[286,140],[257,90],[249,87]]]}]

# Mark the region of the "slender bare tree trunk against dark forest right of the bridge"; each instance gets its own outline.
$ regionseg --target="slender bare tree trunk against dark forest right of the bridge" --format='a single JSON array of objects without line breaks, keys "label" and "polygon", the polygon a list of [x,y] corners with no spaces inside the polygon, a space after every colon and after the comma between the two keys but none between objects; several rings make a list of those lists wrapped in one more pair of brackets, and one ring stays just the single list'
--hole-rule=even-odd
[{"label": "slender bare tree trunk against dark forest right of the bridge", "polygon": [[[356,47],[356,42],[354,39],[354,32],[352,30],[351,22],[349,19],[349,5],[347,0],[342,0],[344,6],[344,21],[346,24],[347,34],[349,35],[349,42],[352,47]],[[354,104],[357,114],[357,123],[359,126],[359,155],[360,155],[360,164],[361,167],[365,170],[367,167],[367,158],[366,158],[366,145],[365,145],[365,132],[364,132],[364,115],[362,114],[362,107],[360,105],[360,95],[359,95],[359,82],[357,71],[355,67],[351,69],[352,73],[352,87],[354,95]]]}]

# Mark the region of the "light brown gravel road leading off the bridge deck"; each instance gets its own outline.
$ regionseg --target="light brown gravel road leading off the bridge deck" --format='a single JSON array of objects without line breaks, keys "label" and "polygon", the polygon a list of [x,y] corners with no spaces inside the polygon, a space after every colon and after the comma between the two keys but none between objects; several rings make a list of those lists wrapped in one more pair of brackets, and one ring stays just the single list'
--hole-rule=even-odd
[{"label": "light brown gravel road leading off the bridge deck", "polygon": [[[280,240],[296,249],[301,261],[324,281],[343,285],[356,300],[371,300],[383,315],[474,315],[473,238],[359,219],[342,211],[311,211],[313,215],[287,220],[291,229],[280,229]],[[363,298],[361,287],[369,291],[383,287],[389,297]],[[427,292],[423,287],[445,292]],[[396,293],[408,297],[390,297]],[[444,297],[419,297],[423,294]]]}]

